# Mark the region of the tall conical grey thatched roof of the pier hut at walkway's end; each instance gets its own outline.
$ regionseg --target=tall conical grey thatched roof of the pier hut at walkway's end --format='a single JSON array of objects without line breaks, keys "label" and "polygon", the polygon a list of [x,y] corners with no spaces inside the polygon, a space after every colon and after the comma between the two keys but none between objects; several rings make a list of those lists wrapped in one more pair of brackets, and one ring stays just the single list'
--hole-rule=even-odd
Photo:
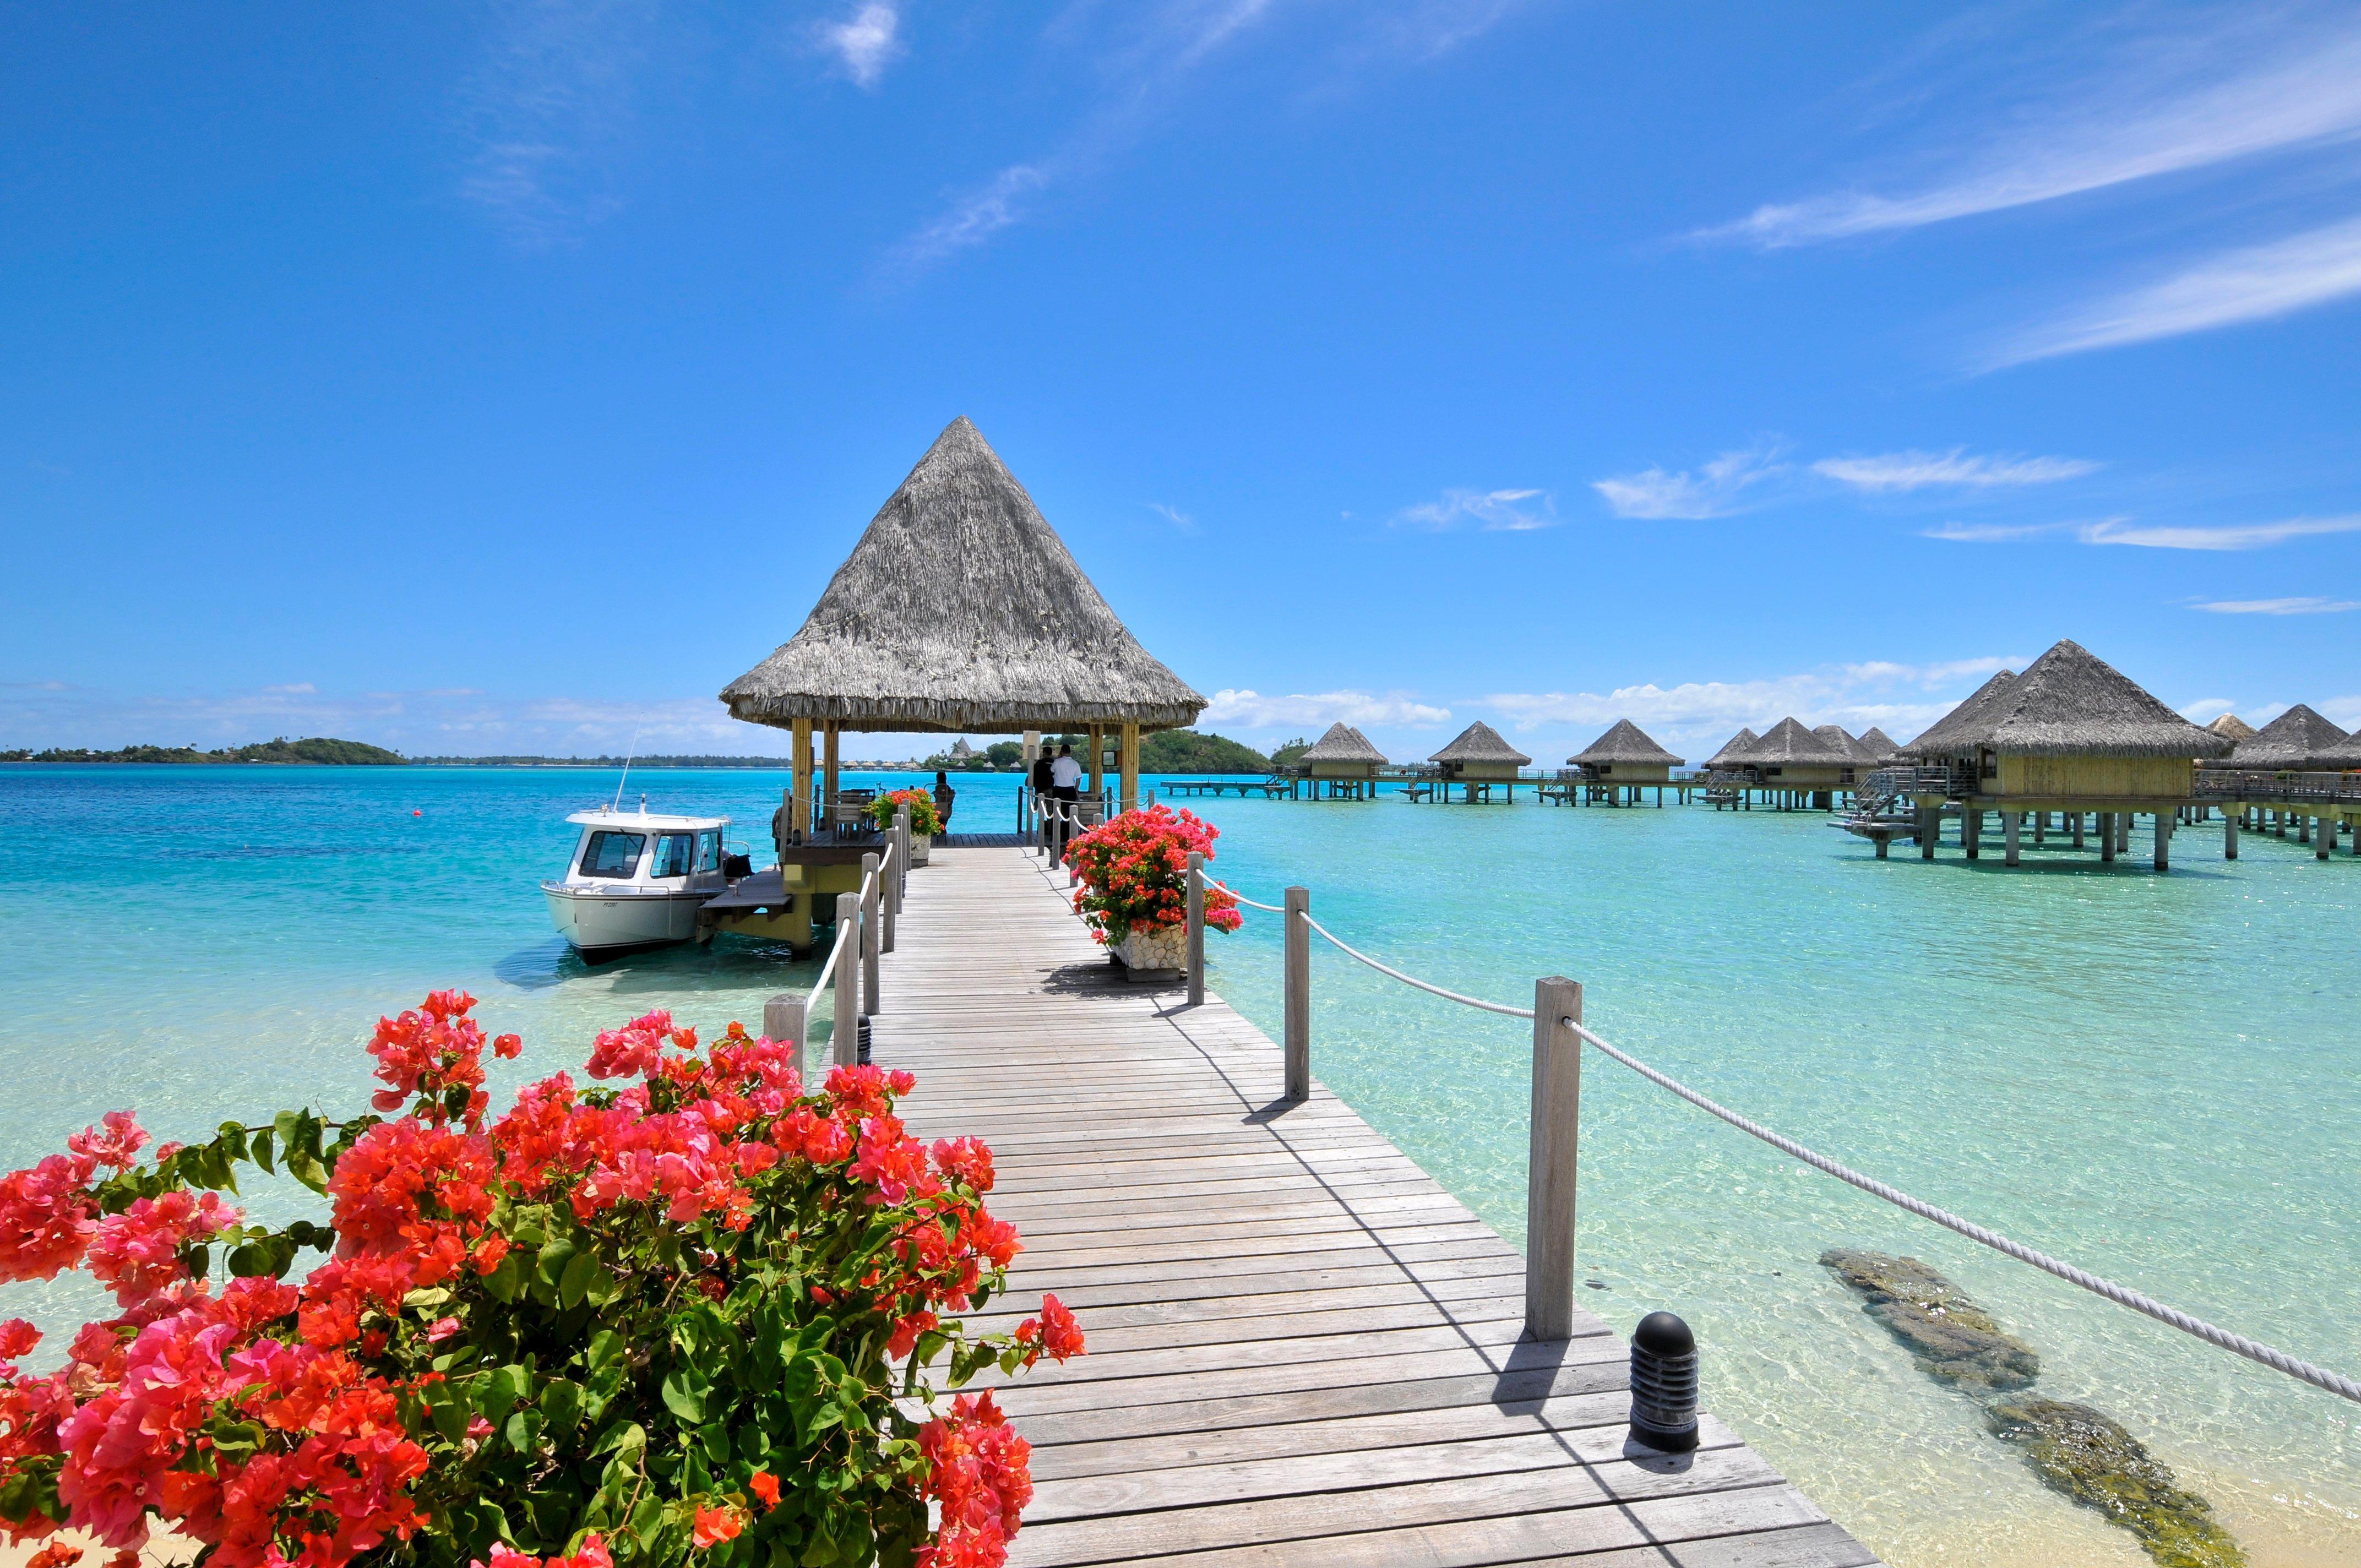
[{"label": "tall conical grey thatched roof of the pier hut at walkway's end", "polygon": [[845,730],[1176,730],[1204,697],[1098,597],[966,418],[869,522],[810,619],[722,690],[732,718]]}]

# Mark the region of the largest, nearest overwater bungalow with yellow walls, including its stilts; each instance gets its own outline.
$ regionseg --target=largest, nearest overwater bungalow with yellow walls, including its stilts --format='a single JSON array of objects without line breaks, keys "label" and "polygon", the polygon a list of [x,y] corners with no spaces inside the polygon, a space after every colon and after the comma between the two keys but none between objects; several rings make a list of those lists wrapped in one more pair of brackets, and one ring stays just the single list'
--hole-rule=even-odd
[{"label": "largest, nearest overwater bungalow with yellow walls, including its stilts", "polygon": [[1979,855],[1986,812],[1997,810],[2009,864],[2016,864],[2028,812],[2040,815],[2038,834],[2049,812],[2066,812],[2075,845],[2085,812],[2097,812],[2101,860],[2125,848],[2132,815],[2149,812],[2163,871],[2172,824],[2193,798],[2198,758],[2229,749],[2226,737],[2191,725],[2089,649],[2059,642],[2023,675],[1993,675],[1910,744],[1929,767],[1912,791],[1922,815],[1919,855],[1934,857],[1929,817],[1945,801],[1960,808],[1969,860]]}]

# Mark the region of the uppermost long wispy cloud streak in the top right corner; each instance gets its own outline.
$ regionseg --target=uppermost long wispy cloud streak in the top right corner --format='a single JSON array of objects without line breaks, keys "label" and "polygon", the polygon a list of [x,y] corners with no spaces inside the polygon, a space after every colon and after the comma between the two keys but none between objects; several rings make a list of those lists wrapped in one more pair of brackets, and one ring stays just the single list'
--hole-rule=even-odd
[{"label": "uppermost long wispy cloud streak in the top right corner", "polygon": [[1917,229],[2344,142],[2361,135],[2361,31],[2352,12],[2323,26],[2257,12],[2212,33],[2144,40],[2045,97],[2054,109],[2009,116],[2004,130],[1917,189],[1761,205],[1698,239],[1780,248]]}]

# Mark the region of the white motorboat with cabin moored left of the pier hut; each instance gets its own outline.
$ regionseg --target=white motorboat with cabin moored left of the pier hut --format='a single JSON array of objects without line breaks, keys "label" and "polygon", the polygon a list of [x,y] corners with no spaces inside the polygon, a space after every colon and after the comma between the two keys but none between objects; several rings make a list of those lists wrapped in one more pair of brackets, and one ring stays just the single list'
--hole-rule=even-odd
[{"label": "white motorboat with cabin moored left of the pier hut", "polygon": [[696,912],[730,881],[722,829],[730,817],[668,817],[600,808],[581,827],[564,876],[541,883],[557,933],[586,959],[696,937]]}]

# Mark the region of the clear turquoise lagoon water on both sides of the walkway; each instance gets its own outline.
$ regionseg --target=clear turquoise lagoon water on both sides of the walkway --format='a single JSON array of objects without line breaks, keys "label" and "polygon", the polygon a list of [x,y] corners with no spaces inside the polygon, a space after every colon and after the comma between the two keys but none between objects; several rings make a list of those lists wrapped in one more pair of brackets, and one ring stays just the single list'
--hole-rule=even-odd
[{"label": "clear turquoise lagoon water on both sides of the walkway", "polygon": [[[635,772],[656,810],[765,841],[784,775]],[[888,779],[866,779],[888,782]],[[909,779],[892,779],[909,782]],[[959,827],[1013,822],[961,779]],[[361,1103],[359,1041],[437,985],[519,1030],[508,1082],[578,1063],[623,1015],[718,1027],[810,980],[720,940],[588,968],[536,883],[571,770],[0,767],[7,1006],[0,1159],[116,1105],[198,1136],[262,1105]],[[1757,1119],[2297,1355],[2361,1367],[2361,864],[2184,829],[2177,869],[2071,850],[2009,871],[1955,850],[1877,862],[1818,815],[1206,801],[1216,869],[1313,890],[1346,940],[1443,985],[1587,1020]],[[1211,982],[1280,1027],[1277,923],[1214,940]],[[1504,1235],[1523,1235],[1530,1032],[1315,942],[1313,1067]],[[2257,1566],[2361,1561],[2361,1440],[2342,1400],[2085,1296],[1797,1167],[1591,1053],[1582,1304],[1620,1329],[1683,1313],[1707,1405],[1894,1563],[2141,1563],[1816,1266],[1912,1252],[2205,1492]],[[262,1193],[257,1209],[286,1204]],[[1591,1285],[1596,1282],[1596,1285]],[[0,1311],[61,1325],[73,1282]]]}]

